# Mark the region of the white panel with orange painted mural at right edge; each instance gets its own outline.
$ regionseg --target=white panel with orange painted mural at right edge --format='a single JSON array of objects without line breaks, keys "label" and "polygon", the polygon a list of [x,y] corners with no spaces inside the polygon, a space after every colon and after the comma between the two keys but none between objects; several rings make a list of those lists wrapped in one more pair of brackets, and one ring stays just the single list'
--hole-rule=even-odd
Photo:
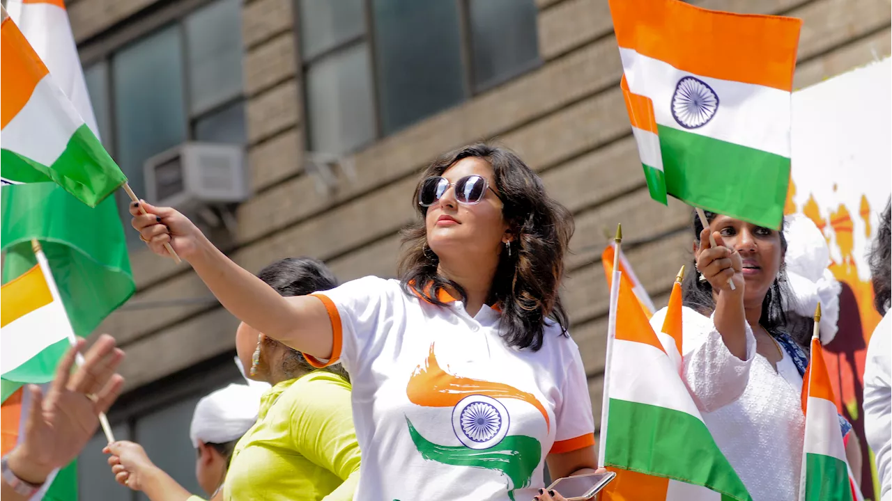
[{"label": "white panel with orange painted mural at right edge", "polygon": [[842,285],[838,333],[824,347],[839,412],[861,442],[865,499],[880,492],[864,437],[863,374],[867,343],[880,323],[873,307],[868,255],[879,213],[892,194],[888,117],[892,58],[793,93],[792,160],[785,212],[814,221],[830,247],[830,271]]}]

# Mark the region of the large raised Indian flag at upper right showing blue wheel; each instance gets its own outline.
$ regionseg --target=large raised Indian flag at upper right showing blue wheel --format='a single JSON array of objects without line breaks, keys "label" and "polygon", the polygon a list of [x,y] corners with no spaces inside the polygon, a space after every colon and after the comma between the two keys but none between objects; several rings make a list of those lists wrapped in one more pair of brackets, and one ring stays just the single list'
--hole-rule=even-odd
[{"label": "large raised Indian flag at upper right showing blue wheel", "polygon": [[651,197],[779,228],[802,21],[610,0]]}]

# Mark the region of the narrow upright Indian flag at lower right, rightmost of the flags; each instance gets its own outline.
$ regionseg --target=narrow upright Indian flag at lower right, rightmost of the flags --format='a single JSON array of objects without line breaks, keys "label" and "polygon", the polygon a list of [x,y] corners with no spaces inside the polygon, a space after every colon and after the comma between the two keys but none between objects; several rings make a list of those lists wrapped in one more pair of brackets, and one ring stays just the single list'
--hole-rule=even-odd
[{"label": "narrow upright Indian flag at lower right, rightmost of the flags", "polygon": [[839,435],[836,398],[824,365],[821,340],[812,338],[812,358],[803,384],[805,443],[802,450],[801,501],[851,501],[846,449]]}]

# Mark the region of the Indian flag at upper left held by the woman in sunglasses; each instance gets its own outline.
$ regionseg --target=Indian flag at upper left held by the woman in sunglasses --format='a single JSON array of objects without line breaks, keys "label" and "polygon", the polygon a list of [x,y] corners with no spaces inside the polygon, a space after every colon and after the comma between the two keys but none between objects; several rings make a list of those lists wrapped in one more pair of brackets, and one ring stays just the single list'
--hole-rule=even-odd
[{"label": "Indian flag at upper left held by the woman in sunglasses", "polygon": [[0,7],[0,177],[54,181],[95,207],[127,178],[56,78]]}]

